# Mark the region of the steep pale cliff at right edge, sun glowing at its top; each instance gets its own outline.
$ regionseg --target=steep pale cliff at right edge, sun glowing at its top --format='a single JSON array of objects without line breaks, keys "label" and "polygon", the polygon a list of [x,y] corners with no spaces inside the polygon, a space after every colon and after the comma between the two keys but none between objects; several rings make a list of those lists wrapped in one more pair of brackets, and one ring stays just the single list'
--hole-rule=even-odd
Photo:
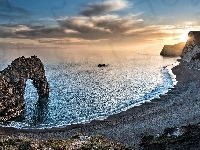
[{"label": "steep pale cliff at right edge, sun glowing at its top", "polygon": [[200,59],[200,31],[190,31],[181,58],[184,61],[192,62]]}]

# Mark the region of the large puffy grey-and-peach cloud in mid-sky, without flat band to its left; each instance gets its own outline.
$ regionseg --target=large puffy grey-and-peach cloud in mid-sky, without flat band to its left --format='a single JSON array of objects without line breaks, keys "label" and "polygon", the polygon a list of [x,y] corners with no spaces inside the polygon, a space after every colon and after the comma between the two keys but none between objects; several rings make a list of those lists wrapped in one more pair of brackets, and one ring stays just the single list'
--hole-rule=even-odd
[{"label": "large puffy grey-and-peach cloud in mid-sky, without flat band to its left", "polygon": [[[134,16],[135,17],[135,16]],[[93,17],[60,18],[58,23],[82,38],[102,39],[113,34],[124,34],[126,31],[138,26],[143,20],[133,16],[120,17],[118,15],[105,15]]]}]

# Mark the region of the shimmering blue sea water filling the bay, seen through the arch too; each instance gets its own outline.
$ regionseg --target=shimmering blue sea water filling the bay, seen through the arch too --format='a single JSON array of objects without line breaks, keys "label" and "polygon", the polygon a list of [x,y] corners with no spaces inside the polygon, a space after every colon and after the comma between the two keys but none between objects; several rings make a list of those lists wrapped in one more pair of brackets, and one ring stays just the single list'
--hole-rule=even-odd
[{"label": "shimmering blue sea water filling the bay, seen through the arch too", "polygon": [[27,80],[25,113],[4,126],[51,128],[105,119],[166,93],[176,83],[176,59],[138,55],[102,68],[94,60],[44,62],[49,98],[38,101]]}]

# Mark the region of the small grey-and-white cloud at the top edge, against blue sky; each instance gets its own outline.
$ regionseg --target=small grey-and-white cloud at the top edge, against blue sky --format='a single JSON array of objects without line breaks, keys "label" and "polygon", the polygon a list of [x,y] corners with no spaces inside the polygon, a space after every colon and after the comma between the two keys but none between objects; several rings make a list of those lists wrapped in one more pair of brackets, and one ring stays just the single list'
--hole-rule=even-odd
[{"label": "small grey-and-white cloud at the top edge, against blue sky", "polygon": [[102,3],[88,4],[80,14],[84,16],[93,16],[103,12],[122,10],[128,6],[130,6],[130,4],[126,0],[107,0]]}]

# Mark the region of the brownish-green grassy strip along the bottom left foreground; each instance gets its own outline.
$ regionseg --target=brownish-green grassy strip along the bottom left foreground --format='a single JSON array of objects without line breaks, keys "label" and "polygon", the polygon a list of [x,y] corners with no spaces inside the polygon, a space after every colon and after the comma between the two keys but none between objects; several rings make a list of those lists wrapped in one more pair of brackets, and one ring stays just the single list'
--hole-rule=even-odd
[{"label": "brownish-green grassy strip along the bottom left foreground", "polygon": [[0,139],[0,150],[131,150],[122,144],[110,142],[103,136],[87,137],[77,134],[70,139],[37,140],[25,137]]}]

